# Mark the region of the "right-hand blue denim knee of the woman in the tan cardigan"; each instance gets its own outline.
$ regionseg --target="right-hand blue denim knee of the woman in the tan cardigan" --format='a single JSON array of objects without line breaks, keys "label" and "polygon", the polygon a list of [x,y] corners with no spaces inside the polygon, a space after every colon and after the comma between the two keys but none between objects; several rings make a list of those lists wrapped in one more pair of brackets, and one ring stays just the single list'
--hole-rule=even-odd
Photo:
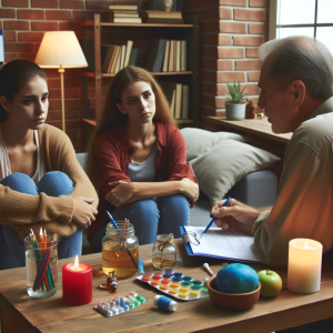
[{"label": "right-hand blue denim knee of the woman in the tan cardigan", "polygon": [[50,196],[69,195],[73,191],[73,182],[65,173],[51,171],[42,176],[38,190]]}]

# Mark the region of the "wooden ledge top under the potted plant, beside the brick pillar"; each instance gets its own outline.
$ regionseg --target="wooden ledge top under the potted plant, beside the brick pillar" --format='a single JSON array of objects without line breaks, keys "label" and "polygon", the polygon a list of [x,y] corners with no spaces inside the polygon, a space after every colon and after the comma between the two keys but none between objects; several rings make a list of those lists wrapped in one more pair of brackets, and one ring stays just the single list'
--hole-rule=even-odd
[{"label": "wooden ledge top under the potted plant, beside the brick pillar", "polygon": [[258,134],[268,139],[287,143],[292,133],[275,134],[272,131],[271,123],[268,118],[263,119],[242,119],[242,120],[226,120],[225,117],[208,117],[216,124],[222,124],[231,129],[239,129],[248,133]]}]

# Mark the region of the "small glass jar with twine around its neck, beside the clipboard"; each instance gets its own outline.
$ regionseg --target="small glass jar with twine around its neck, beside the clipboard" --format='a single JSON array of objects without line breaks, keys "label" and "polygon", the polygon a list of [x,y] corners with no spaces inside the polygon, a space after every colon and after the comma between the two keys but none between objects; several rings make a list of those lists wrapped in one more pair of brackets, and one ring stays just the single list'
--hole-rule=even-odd
[{"label": "small glass jar with twine around its neck, beside the clipboard", "polygon": [[152,264],[164,270],[175,265],[176,249],[173,244],[173,234],[159,234],[152,249]]}]

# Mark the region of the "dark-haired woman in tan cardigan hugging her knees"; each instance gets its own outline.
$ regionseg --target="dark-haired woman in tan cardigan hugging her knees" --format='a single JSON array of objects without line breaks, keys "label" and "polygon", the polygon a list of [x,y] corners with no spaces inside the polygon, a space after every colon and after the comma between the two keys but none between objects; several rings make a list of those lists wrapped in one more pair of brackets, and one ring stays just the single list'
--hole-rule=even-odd
[{"label": "dark-haired woman in tan cardigan hugging her knees", "polygon": [[0,70],[0,269],[26,264],[22,240],[40,226],[58,232],[59,259],[81,254],[82,226],[95,219],[97,193],[71,141],[44,124],[48,97],[34,62]]}]

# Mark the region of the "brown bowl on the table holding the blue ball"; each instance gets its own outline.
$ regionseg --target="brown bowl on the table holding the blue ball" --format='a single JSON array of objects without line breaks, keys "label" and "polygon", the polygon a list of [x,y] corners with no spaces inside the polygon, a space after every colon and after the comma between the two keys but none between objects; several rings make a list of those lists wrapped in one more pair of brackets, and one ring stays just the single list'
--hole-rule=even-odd
[{"label": "brown bowl on the table holding the blue ball", "polygon": [[258,289],[250,293],[226,294],[219,292],[212,287],[215,278],[216,276],[212,276],[206,283],[210,299],[215,305],[230,310],[245,310],[251,307],[259,300],[261,290],[260,282]]}]

